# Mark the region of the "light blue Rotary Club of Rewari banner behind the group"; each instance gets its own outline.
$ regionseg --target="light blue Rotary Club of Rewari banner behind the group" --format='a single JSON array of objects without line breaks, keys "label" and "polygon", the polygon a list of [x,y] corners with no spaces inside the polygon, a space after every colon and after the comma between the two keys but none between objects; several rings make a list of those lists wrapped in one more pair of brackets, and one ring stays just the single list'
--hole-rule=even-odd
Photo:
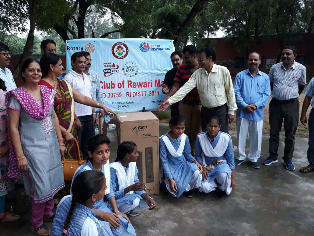
[{"label": "light blue Rotary Club of Rewari banner behind the group", "polygon": [[86,51],[100,78],[105,105],[115,112],[156,110],[164,100],[165,73],[172,68],[173,40],[83,38],[66,41],[67,72],[71,55]]}]

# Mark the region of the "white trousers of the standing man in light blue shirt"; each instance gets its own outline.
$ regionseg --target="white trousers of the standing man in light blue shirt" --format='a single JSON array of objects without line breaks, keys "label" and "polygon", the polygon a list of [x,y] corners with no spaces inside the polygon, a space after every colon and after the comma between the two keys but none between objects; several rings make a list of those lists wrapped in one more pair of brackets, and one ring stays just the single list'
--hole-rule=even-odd
[{"label": "white trousers of the standing man in light blue shirt", "polygon": [[256,162],[261,155],[263,120],[251,121],[236,117],[236,130],[238,139],[238,153],[236,159],[245,160],[245,147],[247,135],[250,135],[250,152],[247,155],[249,161]]}]

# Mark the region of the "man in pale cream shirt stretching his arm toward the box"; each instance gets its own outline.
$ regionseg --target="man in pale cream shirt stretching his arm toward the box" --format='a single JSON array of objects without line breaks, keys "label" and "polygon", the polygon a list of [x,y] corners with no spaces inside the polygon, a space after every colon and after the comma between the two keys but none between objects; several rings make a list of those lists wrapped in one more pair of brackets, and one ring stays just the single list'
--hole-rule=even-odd
[{"label": "man in pale cream shirt stretching his arm toward the box", "polygon": [[197,87],[201,108],[201,124],[206,131],[207,118],[212,115],[219,117],[220,131],[229,133],[229,124],[235,118],[236,98],[232,86],[229,70],[214,64],[216,51],[214,48],[198,50],[198,64],[201,69],[196,70],[189,81],[185,83],[172,97],[159,105],[157,110],[165,110],[169,105],[180,101],[194,87]]}]

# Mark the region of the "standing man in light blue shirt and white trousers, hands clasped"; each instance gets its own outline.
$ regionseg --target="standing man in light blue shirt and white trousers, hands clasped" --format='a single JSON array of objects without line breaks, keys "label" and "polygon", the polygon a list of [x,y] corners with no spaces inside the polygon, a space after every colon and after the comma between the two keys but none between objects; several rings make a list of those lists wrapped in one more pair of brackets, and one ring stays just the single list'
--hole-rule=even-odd
[{"label": "standing man in light blue shirt and white trousers, hands clasped", "polygon": [[236,75],[234,91],[236,95],[236,126],[238,153],[235,165],[239,166],[246,159],[245,146],[248,132],[250,133],[250,153],[247,155],[249,164],[259,168],[257,162],[261,154],[264,108],[270,96],[270,83],[267,74],[258,70],[261,64],[259,53],[249,54],[249,69]]}]

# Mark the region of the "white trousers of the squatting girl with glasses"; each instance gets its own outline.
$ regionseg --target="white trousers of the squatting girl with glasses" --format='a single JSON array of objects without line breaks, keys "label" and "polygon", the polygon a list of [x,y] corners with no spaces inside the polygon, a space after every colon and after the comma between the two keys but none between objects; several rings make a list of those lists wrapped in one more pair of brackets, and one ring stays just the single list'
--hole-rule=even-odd
[{"label": "white trousers of the squatting girl with glasses", "polygon": [[225,191],[229,195],[232,191],[231,179],[228,178],[226,172],[220,173],[213,181],[201,183],[199,187],[200,192],[209,193],[215,191],[216,188],[219,188],[221,191]]}]

